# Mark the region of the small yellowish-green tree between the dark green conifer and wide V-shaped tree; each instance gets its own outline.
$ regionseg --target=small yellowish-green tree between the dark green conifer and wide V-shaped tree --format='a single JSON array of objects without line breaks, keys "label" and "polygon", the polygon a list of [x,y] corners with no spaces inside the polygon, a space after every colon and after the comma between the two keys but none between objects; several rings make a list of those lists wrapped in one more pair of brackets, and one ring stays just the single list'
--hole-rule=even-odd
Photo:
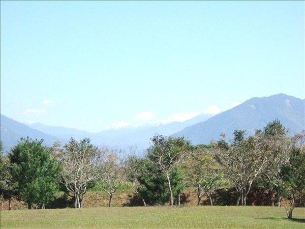
[{"label": "small yellowish-green tree between the dark green conifer and wide V-shaped tree", "polygon": [[197,147],[189,158],[187,170],[191,185],[196,187],[197,204],[200,205],[201,198],[206,194],[212,206],[212,194],[222,182],[220,165],[206,149]]}]

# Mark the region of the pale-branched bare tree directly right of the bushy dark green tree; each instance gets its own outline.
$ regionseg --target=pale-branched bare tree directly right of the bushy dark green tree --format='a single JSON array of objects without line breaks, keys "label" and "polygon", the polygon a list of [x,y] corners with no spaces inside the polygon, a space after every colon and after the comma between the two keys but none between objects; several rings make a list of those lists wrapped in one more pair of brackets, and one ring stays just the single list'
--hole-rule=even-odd
[{"label": "pale-branched bare tree directly right of the bushy dark green tree", "polygon": [[103,151],[90,144],[89,138],[77,142],[71,138],[62,156],[62,178],[74,198],[74,208],[82,208],[87,187],[101,177]]}]

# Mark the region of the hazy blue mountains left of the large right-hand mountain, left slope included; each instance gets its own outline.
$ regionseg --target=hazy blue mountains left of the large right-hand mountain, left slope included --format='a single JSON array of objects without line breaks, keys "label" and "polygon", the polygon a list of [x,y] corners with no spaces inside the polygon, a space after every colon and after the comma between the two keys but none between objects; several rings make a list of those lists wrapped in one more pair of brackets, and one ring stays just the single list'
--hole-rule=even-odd
[{"label": "hazy blue mountains left of the large right-hand mountain, left slope included", "polygon": [[55,140],[66,144],[71,137],[77,140],[89,137],[91,142],[99,147],[116,150],[128,150],[128,147],[133,147],[137,149],[138,153],[141,153],[149,147],[149,139],[154,134],[171,135],[187,126],[205,121],[210,117],[211,115],[202,114],[185,122],[173,122],[158,126],[144,125],[140,127],[125,127],[104,130],[99,133],[90,133],[73,128],[48,126],[41,123],[25,125],[1,115],[1,140],[3,141],[4,149],[8,151],[17,144],[21,137],[26,136],[32,137],[33,139],[44,139],[45,146],[51,146]]}]

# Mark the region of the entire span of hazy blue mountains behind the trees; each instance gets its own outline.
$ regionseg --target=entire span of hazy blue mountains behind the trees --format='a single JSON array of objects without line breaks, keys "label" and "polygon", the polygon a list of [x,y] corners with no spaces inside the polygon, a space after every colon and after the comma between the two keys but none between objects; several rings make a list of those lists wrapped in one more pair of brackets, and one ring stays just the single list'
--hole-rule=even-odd
[{"label": "entire span of hazy blue mountains behind the trees", "polygon": [[55,140],[65,144],[71,137],[77,140],[89,137],[92,143],[99,147],[127,150],[129,146],[136,146],[138,152],[141,152],[149,147],[149,139],[155,133],[175,137],[185,136],[194,145],[208,144],[212,139],[218,140],[221,133],[225,133],[230,138],[236,129],[247,130],[251,135],[255,129],[262,129],[276,118],[293,135],[305,128],[304,104],[305,100],[278,94],[249,99],[214,117],[202,114],[185,122],[109,129],[99,133],[39,123],[25,125],[1,115],[1,140],[5,150],[9,150],[16,145],[20,137],[26,136],[43,138],[47,146],[52,145]]}]

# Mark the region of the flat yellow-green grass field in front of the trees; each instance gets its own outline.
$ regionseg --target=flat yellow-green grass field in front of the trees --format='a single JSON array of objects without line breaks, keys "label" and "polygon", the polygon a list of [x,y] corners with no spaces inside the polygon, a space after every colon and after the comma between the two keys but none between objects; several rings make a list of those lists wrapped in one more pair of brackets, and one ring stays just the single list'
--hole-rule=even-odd
[{"label": "flat yellow-green grass field in front of the trees", "polygon": [[305,209],[293,220],[277,207],[113,207],[1,212],[1,228],[305,228]]}]

